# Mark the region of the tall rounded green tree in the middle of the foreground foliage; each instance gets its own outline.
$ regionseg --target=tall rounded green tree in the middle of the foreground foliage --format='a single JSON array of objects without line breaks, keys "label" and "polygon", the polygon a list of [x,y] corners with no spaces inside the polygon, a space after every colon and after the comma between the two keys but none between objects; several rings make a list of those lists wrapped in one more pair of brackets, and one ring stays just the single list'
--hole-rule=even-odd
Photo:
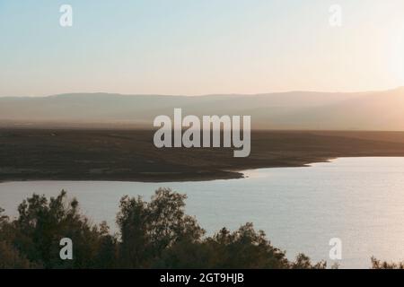
[{"label": "tall rounded green tree in the middle of the foreground foliage", "polygon": [[162,253],[178,242],[195,242],[205,231],[195,218],[184,212],[185,195],[168,188],[155,191],[152,201],[141,197],[120,200],[117,216],[121,242],[119,259],[123,266],[149,268],[158,264]]}]

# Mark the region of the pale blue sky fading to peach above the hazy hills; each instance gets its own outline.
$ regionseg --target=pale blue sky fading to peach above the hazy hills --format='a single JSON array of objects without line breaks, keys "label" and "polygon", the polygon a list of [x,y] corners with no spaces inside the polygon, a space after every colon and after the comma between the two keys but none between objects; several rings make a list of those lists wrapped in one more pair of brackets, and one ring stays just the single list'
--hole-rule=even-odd
[{"label": "pale blue sky fading to peach above the hazy hills", "polygon": [[402,0],[0,0],[0,96],[387,90],[403,51]]}]

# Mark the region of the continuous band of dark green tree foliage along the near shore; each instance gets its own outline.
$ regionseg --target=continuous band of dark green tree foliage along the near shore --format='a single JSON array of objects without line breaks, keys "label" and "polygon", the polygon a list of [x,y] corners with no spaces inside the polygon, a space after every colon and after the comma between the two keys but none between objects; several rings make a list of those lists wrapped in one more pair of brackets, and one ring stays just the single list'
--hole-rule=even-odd
[{"label": "continuous band of dark green tree foliage along the near shore", "polygon": [[[0,268],[325,268],[299,255],[289,261],[263,231],[247,223],[233,232],[206,237],[197,220],[185,213],[185,195],[155,191],[150,202],[121,198],[117,225],[92,224],[66,192],[33,195],[10,220],[0,209]],[[59,241],[72,239],[73,260],[59,257]]]}]

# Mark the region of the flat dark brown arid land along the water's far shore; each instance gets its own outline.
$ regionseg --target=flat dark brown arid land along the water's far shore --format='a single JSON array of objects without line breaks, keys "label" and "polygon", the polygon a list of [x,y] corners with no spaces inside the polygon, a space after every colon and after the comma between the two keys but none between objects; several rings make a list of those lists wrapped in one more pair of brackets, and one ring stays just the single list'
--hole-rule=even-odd
[{"label": "flat dark brown arid land along the water's far shore", "polygon": [[233,158],[233,150],[225,148],[157,149],[153,135],[125,129],[0,129],[0,181],[209,180],[337,157],[404,156],[404,132],[255,131],[248,158]]}]

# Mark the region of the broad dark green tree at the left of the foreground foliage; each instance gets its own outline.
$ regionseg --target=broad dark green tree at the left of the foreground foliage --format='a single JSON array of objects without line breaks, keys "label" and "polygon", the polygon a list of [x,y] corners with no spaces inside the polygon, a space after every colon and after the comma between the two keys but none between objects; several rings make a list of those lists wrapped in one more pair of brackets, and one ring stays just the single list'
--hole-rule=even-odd
[{"label": "broad dark green tree at the left of the foreground foliage", "polygon": [[[18,207],[13,222],[13,246],[32,263],[45,268],[96,268],[104,265],[102,257],[113,257],[115,250],[100,257],[100,249],[109,250],[114,240],[104,225],[101,230],[90,224],[78,208],[77,200],[66,201],[66,192],[57,197],[33,195]],[[73,241],[74,260],[59,257],[60,239]],[[101,260],[101,261],[100,261]],[[113,262],[114,260],[112,260]]]}]

